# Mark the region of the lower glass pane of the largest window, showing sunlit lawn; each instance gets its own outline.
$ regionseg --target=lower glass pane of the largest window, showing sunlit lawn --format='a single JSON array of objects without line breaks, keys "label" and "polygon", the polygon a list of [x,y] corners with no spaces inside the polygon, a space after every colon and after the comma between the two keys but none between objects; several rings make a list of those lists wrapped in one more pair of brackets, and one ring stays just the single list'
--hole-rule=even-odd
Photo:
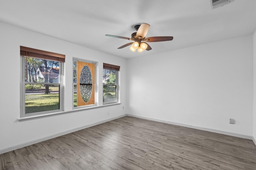
[{"label": "lower glass pane of the largest window, showing sunlit lawn", "polygon": [[26,84],[25,114],[60,109],[60,85]]}]

